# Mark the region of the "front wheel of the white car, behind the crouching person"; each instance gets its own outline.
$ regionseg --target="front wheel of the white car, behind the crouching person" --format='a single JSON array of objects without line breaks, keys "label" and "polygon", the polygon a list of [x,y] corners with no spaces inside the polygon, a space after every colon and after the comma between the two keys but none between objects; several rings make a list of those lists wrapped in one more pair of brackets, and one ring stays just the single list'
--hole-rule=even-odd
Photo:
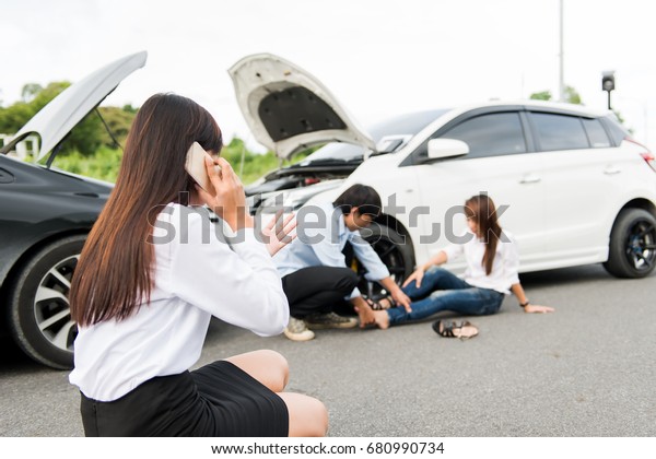
[{"label": "front wheel of the white car, behind the crouching person", "polygon": [[[363,231],[363,236],[378,254],[394,281],[400,285],[414,268],[414,251],[410,244],[406,242],[405,236],[388,226],[377,223]],[[366,270],[362,263],[356,263],[356,271],[361,279],[359,289],[363,294],[374,296],[382,292],[383,287],[378,283],[364,279]]]}]

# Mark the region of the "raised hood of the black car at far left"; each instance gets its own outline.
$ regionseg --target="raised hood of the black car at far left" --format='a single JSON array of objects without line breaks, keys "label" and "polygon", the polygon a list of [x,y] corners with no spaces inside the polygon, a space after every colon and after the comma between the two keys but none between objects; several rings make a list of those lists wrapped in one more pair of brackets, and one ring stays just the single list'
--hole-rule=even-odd
[{"label": "raised hood of the black car at far left", "polygon": [[134,70],[145,64],[147,51],[118,59],[70,85],[42,108],[2,148],[12,150],[32,133],[40,137],[35,162],[43,160],[61,140]]}]

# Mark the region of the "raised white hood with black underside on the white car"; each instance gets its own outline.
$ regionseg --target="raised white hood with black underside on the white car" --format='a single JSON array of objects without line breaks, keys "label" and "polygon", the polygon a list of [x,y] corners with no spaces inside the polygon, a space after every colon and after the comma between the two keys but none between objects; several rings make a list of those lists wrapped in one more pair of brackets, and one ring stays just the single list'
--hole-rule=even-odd
[{"label": "raised white hood with black underside on the white car", "polygon": [[318,143],[375,150],[364,132],[316,78],[270,54],[243,58],[229,69],[239,108],[255,139],[289,160]]}]

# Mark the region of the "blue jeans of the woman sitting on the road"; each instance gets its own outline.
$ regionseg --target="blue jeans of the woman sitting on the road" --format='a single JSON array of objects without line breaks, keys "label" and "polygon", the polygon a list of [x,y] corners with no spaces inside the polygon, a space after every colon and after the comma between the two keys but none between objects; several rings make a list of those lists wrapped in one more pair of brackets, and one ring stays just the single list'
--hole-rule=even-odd
[{"label": "blue jeans of the woman sitting on the road", "polygon": [[423,319],[443,310],[468,316],[495,314],[504,298],[501,292],[471,286],[441,268],[426,271],[420,287],[413,281],[403,292],[412,299],[412,313],[407,313],[403,306],[387,309],[389,325]]}]

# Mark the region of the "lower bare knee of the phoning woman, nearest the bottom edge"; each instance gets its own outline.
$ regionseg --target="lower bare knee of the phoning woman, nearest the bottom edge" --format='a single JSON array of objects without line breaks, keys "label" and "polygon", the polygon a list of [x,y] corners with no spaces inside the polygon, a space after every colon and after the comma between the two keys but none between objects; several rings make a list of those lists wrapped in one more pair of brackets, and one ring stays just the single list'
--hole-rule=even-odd
[{"label": "lower bare knee of the phoning woman, nearest the bottom edge", "polygon": [[328,432],[328,410],[319,400],[302,393],[282,392],[290,414],[290,437],[323,437]]}]

